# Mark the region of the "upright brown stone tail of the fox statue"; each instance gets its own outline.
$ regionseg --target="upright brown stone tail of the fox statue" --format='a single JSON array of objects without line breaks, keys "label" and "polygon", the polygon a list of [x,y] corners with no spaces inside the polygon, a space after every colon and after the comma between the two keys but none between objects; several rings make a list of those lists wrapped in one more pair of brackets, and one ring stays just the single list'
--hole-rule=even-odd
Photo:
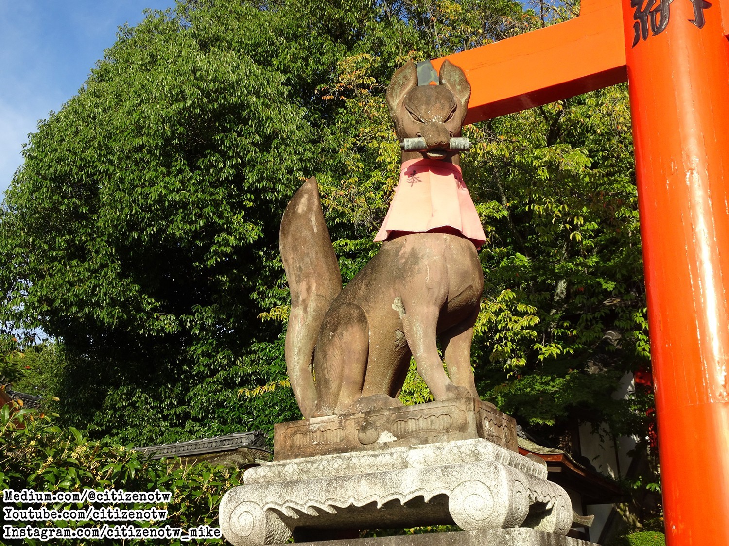
[{"label": "upright brown stone tail of the fox statue", "polygon": [[291,289],[286,368],[301,413],[308,419],[316,406],[312,370],[316,338],[324,314],[342,290],[342,275],[313,176],[286,206],[279,241]]}]

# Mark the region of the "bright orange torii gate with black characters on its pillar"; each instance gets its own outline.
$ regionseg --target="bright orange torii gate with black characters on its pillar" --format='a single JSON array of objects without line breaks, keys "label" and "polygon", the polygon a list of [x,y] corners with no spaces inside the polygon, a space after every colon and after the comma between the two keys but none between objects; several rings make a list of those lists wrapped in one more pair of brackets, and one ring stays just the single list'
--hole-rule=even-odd
[{"label": "bright orange torii gate with black characters on its pillar", "polygon": [[628,81],[669,546],[729,545],[728,37],[729,0],[582,0],[448,57],[467,123]]}]

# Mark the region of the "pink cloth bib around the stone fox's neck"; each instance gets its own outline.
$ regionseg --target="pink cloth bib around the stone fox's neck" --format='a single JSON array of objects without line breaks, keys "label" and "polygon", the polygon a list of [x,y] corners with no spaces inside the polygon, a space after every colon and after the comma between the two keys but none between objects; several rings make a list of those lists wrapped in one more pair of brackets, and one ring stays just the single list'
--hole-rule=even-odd
[{"label": "pink cloth bib around the stone fox's neck", "polygon": [[461,167],[437,159],[406,161],[375,241],[387,240],[391,232],[423,233],[446,226],[461,232],[476,248],[486,242]]}]

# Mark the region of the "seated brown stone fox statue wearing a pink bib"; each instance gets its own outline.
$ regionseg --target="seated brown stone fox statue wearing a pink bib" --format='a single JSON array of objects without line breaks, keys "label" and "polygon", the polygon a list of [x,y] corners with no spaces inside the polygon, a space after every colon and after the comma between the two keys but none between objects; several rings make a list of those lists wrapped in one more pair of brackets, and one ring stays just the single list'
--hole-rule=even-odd
[{"label": "seated brown stone fox statue wearing a pink bib", "polygon": [[477,247],[486,237],[458,151],[471,88],[447,60],[440,77],[428,66],[408,63],[387,89],[403,149],[400,183],[375,238],[381,249],[344,289],[315,178],[284,212],[286,366],[305,418],[400,405],[411,355],[435,400],[478,397],[470,351],[483,291]]}]

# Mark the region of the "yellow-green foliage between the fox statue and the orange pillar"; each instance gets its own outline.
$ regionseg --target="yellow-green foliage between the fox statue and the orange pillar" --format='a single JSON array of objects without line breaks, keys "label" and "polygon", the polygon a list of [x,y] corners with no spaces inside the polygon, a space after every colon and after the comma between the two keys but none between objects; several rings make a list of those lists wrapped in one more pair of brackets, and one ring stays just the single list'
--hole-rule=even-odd
[{"label": "yellow-green foliage between the fox statue and the orange pillar", "polygon": [[617,425],[611,385],[647,363],[629,127],[627,92],[615,87],[473,129],[490,229],[479,347],[507,371],[485,379],[529,422],[589,409]]}]

